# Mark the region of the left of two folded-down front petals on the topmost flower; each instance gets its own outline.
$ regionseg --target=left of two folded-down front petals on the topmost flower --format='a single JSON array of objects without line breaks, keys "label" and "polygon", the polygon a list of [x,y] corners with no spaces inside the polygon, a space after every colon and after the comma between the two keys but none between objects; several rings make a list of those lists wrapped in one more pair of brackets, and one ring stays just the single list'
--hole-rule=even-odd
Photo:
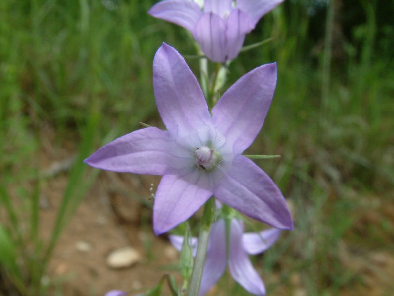
[{"label": "left of two folded-down front petals on the topmost flower", "polygon": [[197,22],[194,37],[204,54],[214,62],[225,62],[225,23],[214,13],[205,13]]}]

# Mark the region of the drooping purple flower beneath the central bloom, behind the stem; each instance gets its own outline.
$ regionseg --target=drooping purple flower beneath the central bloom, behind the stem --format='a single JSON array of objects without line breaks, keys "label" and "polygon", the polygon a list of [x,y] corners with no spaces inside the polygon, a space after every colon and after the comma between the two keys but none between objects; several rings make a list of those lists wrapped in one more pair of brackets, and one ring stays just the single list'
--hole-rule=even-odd
[{"label": "drooping purple flower beneath the central bloom, behind the stem", "polygon": [[[243,233],[243,222],[232,219],[230,222],[229,254],[226,248],[226,223],[219,219],[212,224],[202,280],[200,295],[204,295],[222,277],[228,258],[232,277],[248,292],[255,295],[265,295],[264,283],[253,268],[249,254],[259,254],[271,247],[278,239],[281,230],[269,229],[258,233]],[[170,235],[174,247],[180,251],[183,237]],[[193,256],[196,255],[198,239],[192,237],[190,244]]]}]

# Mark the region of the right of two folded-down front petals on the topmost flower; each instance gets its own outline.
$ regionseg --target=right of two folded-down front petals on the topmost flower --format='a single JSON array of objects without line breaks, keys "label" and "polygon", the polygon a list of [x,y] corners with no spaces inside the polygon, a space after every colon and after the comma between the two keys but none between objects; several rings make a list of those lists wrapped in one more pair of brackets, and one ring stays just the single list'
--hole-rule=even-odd
[{"label": "right of two folded-down front petals on the topmost flower", "polygon": [[227,59],[235,59],[242,48],[245,35],[254,28],[248,14],[234,9],[226,22]]}]

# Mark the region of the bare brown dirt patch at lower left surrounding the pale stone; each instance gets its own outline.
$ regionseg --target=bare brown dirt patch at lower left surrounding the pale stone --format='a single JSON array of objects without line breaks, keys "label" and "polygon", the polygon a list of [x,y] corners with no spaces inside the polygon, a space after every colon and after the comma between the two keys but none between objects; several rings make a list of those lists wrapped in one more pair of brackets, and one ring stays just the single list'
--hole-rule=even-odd
[{"label": "bare brown dirt patch at lower left surrounding the pale stone", "polygon": [[[62,141],[54,145],[55,133],[49,127],[42,133],[38,166],[47,171],[70,158],[75,144]],[[55,174],[41,188],[40,227],[44,239],[50,236],[67,178],[67,171]],[[61,234],[49,266],[49,276],[59,283],[63,295],[100,296],[113,289],[146,291],[168,269],[174,273],[178,252],[166,236],[156,237],[152,232],[150,188],[153,184],[156,190],[159,181],[160,177],[155,176],[99,173]],[[141,205],[141,199],[147,206]],[[128,268],[108,267],[108,254],[125,246],[135,248],[141,260]]]}]

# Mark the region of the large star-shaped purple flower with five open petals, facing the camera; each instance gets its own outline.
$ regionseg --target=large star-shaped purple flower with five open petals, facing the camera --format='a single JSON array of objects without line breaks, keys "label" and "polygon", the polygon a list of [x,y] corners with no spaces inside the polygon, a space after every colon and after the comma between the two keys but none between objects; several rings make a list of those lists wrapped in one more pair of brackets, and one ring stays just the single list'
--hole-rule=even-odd
[{"label": "large star-shaped purple flower with five open petals, facing the camera", "polygon": [[164,233],[192,216],[213,194],[276,228],[293,221],[278,187],[241,153],[268,112],[276,64],[260,66],[231,86],[212,109],[182,56],[163,44],[153,61],[156,104],[167,131],[143,128],[100,148],[85,162],[116,172],[163,175],[153,229]]}]

